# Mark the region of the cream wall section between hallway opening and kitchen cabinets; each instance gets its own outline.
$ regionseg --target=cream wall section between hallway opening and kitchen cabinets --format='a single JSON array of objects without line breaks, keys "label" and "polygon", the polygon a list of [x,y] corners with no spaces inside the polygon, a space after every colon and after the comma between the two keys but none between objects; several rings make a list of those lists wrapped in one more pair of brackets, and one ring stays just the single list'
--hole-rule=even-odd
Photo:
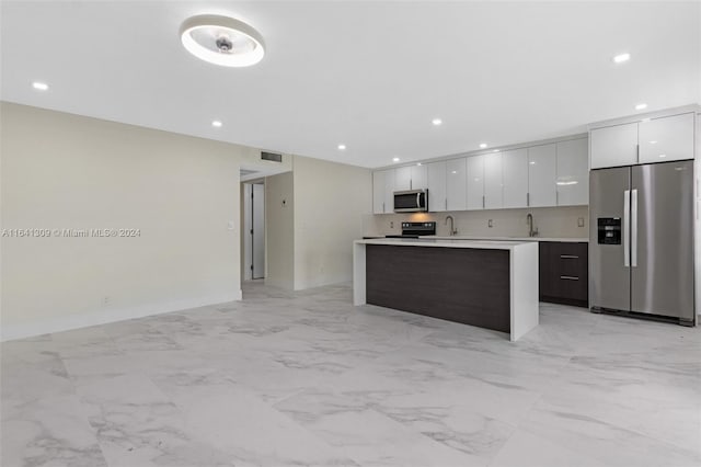
[{"label": "cream wall section between hallway opening and kitchen cabinets", "polygon": [[372,212],[368,169],[295,157],[295,289],[349,282],[353,240]]}]

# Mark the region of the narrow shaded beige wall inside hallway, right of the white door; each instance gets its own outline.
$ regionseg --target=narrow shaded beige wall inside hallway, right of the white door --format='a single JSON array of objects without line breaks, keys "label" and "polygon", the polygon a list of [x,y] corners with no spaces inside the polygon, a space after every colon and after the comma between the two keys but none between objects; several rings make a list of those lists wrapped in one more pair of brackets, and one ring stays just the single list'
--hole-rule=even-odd
[{"label": "narrow shaded beige wall inside hallway, right of the white door", "polygon": [[265,283],[287,289],[295,287],[294,187],[292,172],[265,179]]}]

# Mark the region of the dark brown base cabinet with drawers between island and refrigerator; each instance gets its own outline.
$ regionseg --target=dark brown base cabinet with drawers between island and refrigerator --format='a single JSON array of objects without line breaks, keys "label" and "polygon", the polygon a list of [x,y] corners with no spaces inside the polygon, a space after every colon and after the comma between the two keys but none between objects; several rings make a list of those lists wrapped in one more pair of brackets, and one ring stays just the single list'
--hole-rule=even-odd
[{"label": "dark brown base cabinet with drawers between island and refrigerator", "polygon": [[589,244],[541,241],[539,299],[553,304],[589,306]]}]

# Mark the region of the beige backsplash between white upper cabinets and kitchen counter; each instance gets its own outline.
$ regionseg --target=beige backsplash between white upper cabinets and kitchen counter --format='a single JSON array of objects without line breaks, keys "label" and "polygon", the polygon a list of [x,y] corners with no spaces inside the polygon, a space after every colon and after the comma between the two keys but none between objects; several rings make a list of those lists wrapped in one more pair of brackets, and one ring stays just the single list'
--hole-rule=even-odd
[{"label": "beige backsplash between white upper cabinets and kitchen counter", "polygon": [[[435,220],[436,234],[449,235],[446,216],[455,218],[458,235],[485,237],[527,237],[526,216],[533,215],[539,237],[587,238],[588,206],[530,207],[519,209],[456,210],[445,213],[377,214],[363,218],[364,236],[401,234],[402,221]],[[489,227],[492,219],[492,227]]]}]

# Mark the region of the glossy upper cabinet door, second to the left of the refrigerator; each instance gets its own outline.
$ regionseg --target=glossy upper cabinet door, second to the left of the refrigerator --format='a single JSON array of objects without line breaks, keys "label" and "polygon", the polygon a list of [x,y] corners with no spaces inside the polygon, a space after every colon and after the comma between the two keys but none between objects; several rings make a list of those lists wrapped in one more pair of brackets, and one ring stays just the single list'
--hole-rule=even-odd
[{"label": "glossy upper cabinet door, second to the left of the refrigerator", "polygon": [[556,146],[528,148],[528,205],[556,206]]}]

